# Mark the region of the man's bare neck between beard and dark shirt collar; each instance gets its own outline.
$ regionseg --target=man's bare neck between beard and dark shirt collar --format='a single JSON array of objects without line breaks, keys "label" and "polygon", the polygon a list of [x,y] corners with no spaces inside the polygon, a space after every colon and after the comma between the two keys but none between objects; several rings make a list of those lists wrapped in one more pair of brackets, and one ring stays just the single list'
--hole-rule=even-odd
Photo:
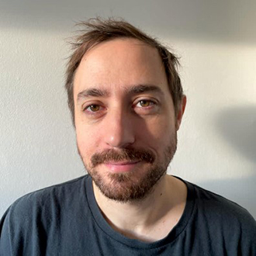
[{"label": "man's bare neck between beard and dark shirt collar", "polygon": [[93,188],[109,225],[126,237],[147,242],[165,237],[185,208],[185,184],[169,175],[164,175],[153,191],[139,201],[116,202],[106,198],[95,184]]}]

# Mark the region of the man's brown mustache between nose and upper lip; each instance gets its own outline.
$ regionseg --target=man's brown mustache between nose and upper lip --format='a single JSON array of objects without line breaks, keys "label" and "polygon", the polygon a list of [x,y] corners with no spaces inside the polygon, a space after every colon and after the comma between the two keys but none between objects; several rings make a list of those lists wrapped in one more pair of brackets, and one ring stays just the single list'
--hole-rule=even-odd
[{"label": "man's brown mustache between nose and upper lip", "polygon": [[124,148],[122,150],[104,150],[101,153],[92,155],[92,168],[99,164],[104,164],[109,161],[145,161],[152,164],[155,160],[155,155],[150,150]]}]

